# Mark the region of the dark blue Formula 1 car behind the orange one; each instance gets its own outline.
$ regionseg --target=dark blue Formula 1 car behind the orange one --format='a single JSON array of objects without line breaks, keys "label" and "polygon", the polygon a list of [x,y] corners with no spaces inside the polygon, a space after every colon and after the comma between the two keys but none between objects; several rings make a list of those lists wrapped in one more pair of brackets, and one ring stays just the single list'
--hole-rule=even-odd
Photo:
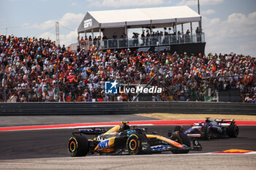
[{"label": "dark blue Formula 1 car behind the orange one", "polygon": [[195,123],[184,134],[189,137],[211,139],[221,137],[237,137],[239,128],[233,119],[215,119],[206,117],[206,122]]}]

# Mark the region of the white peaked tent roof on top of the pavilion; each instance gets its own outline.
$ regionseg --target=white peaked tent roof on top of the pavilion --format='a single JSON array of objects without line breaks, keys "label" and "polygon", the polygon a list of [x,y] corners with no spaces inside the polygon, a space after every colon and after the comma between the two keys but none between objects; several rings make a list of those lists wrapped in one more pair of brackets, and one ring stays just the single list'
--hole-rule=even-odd
[{"label": "white peaked tent roof on top of the pavilion", "polygon": [[83,18],[78,27],[78,32],[95,28],[118,28],[124,26],[140,28],[150,24],[155,26],[158,24],[190,23],[198,22],[200,18],[201,16],[197,12],[187,6],[93,11],[86,13],[85,18]]}]

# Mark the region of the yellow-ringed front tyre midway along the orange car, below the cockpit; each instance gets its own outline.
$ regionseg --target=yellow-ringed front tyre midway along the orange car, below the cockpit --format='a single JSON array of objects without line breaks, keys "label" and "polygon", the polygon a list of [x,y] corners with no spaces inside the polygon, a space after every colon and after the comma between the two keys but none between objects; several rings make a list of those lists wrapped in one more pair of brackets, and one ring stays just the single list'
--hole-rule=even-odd
[{"label": "yellow-ringed front tyre midway along the orange car, below the cockpit", "polygon": [[132,134],[127,139],[127,150],[130,155],[137,155],[141,151],[140,138],[136,134]]}]

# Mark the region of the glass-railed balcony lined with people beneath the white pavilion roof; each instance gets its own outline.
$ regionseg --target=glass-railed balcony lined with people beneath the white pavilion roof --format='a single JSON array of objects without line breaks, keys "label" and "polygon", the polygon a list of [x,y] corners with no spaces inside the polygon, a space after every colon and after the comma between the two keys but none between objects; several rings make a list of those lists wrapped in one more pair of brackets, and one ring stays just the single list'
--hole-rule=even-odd
[{"label": "glass-railed balcony lined with people beneath the white pavilion roof", "polygon": [[[91,37],[91,36],[90,36]],[[102,39],[100,36],[94,37],[94,39],[87,38],[80,39],[80,45],[83,49],[89,49],[91,45],[97,47],[99,50],[105,49],[119,49],[119,48],[129,48],[129,47],[150,47],[150,46],[162,46],[162,45],[174,45],[174,44],[187,44],[187,43],[200,43],[205,42],[205,36],[203,32],[196,32],[195,34],[190,34],[187,30],[186,34],[168,34],[162,31],[152,32],[152,34],[143,32],[140,36],[138,33],[133,33],[131,38],[125,38],[125,34],[122,34],[119,38],[117,36],[107,37],[103,35]]]}]

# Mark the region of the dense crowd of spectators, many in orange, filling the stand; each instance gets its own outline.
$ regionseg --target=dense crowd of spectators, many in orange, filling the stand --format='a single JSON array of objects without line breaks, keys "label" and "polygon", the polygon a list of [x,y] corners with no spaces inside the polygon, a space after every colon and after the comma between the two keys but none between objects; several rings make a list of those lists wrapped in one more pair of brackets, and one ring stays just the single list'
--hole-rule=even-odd
[{"label": "dense crowd of spectators, many in orange, filling the stand", "polygon": [[146,84],[154,74],[151,85],[163,88],[155,101],[207,101],[219,90],[239,89],[242,101],[256,102],[255,63],[234,53],[104,52],[93,46],[73,52],[50,39],[1,36],[0,102],[131,101],[130,93],[105,94],[105,81]]}]

